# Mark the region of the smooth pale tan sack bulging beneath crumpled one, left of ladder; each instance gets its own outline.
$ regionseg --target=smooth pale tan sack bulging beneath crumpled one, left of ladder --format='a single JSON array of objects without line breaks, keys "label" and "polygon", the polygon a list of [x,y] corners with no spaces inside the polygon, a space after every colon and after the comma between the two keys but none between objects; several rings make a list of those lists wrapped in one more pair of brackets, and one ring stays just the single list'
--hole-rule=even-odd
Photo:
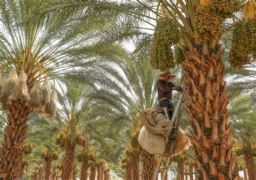
[{"label": "smooth pale tan sack bulging beneath crumpled one, left of ladder", "polygon": [[140,146],[150,154],[160,154],[164,152],[166,138],[163,135],[151,134],[145,126],[140,130],[138,142]]}]

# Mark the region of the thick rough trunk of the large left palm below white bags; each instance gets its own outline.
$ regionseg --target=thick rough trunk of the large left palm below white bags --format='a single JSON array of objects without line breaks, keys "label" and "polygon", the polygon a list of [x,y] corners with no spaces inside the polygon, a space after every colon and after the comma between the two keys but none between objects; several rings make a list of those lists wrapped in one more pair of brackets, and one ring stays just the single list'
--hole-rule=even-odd
[{"label": "thick rough trunk of the large left palm below white bags", "polygon": [[0,149],[0,174],[8,179],[17,177],[17,165],[22,162],[23,146],[28,129],[28,117],[32,109],[22,100],[8,106],[8,124],[4,129],[4,140]]}]

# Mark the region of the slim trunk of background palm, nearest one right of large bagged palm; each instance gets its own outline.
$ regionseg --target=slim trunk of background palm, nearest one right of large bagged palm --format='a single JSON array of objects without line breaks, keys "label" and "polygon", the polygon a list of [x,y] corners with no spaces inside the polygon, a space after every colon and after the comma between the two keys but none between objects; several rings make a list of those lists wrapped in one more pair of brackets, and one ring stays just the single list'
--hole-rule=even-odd
[{"label": "slim trunk of background palm, nearest one right of large bagged palm", "polygon": [[76,145],[72,143],[70,139],[67,138],[65,142],[65,157],[63,160],[62,180],[71,179],[75,147]]}]

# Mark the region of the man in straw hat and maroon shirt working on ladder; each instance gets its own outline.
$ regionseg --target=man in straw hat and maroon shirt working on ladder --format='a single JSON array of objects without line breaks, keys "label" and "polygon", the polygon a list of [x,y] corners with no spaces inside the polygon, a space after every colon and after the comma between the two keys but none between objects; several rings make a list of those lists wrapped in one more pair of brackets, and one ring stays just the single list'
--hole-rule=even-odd
[{"label": "man in straw hat and maroon shirt working on ladder", "polygon": [[[161,80],[157,81],[159,104],[160,107],[167,108],[169,119],[171,119],[174,111],[174,106],[172,104],[172,90],[181,91],[181,86],[176,86],[172,82],[169,82],[169,80],[176,77],[176,75],[171,74],[170,70],[161,72],[159,77],[162,78]],[[164,111],[161,113],[165,114]]]}]

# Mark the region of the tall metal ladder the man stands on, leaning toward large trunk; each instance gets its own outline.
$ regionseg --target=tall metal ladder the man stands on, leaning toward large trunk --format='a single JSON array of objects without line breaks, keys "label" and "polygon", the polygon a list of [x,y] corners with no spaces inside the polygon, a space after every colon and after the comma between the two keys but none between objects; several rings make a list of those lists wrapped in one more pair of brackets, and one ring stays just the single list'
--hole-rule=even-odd
[{"label": "tall metal ladder the man stands on, leaning toward large trunk", "polygon": [[[161,179],[164,179],[164,177],[167,173],[169,163],[171,161],[171,155],[172,155],[173,149],[174,149],[174,143],[176,141],[177,133],[178,133],[178,130],[179,130],[179,124],[180,124],[180,119],[181,119],[181,113],[180,113],[181,111],[180,110],[183,109],[183,105],[184,105],[184,102],[185,102],[185,95],[184,94],[185,93],[183,92],[178,97],[178,102],[176,104],[176,107],[174,109],[173,116],[172,116],[172,119],[171,119],[171,121],[173,122],[172,133],[169,136],[169,139],[166,143],[164,153],[159,155],[159,159],[158,159],[158,162],[157,162],[157,165],[156,165],[156,170],[154,171],[154,176],[153,176],[152,180],[157,180],[157,177],[158,177],[158,174],[159,174],[159,169],[164,169],[163,174],[161,176]],[[165,114],[166,114],[166,112],[167,111],[165,110]],[[164,156],[167,156],[167,161],[166,161],[165,165],[163,167],[161,167],[161,162],[163,161]]]}]

